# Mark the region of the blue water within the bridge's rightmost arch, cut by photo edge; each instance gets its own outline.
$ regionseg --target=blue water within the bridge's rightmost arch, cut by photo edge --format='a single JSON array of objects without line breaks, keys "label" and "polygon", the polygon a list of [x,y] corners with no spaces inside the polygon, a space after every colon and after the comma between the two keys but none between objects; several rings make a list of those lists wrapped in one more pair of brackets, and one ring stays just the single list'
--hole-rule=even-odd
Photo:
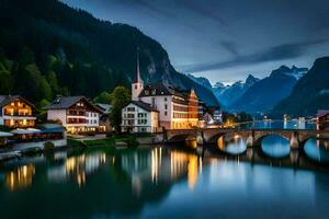
[{"label": "blue water within the bridge's rightmost arch, cut by photo edge", "polygon": [[310,138],[305,142],[305,153],[320,163],[329,163],[329,140]]}]

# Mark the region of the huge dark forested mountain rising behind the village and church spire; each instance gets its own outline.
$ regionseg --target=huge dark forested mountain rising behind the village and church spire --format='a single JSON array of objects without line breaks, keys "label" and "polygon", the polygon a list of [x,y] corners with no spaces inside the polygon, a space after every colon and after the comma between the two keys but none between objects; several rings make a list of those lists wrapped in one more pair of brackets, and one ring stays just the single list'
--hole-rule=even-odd
[{"label": "huge dark forested mountain rising behind the village and church spire", "polygon": [[94,97],[116,85],[131,88],[138,48],[145,82],[194,88],[207,104],[217,104],[209,90],[177,72],[162,46],[136,27],[98,20],[58,0],[1,0],[0,27],[2,94],[39,102],[58,93]]}]

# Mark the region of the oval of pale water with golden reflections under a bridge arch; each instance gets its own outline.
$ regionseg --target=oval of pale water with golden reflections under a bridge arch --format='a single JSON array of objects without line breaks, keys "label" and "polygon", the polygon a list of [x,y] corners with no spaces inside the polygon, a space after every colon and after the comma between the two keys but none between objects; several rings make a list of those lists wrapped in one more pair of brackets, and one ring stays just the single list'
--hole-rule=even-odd
[{"label": "oval of pale water with golden reflections under a bridge arch", "polygon": [[230,154],[239,154],[246,151],[247,141],[242,139],[241,136],[220,136],[217,139],[217,147],[220,151],[230,153]]}]

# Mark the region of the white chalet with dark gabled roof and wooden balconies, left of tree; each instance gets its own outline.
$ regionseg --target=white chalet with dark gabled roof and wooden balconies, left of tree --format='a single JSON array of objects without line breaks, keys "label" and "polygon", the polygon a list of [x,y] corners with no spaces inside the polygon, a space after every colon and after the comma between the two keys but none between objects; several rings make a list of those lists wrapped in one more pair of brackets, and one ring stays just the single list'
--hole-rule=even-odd
[{"label": "white chalet with dark gabled roof and wooden balconies, left of tree", "polygon": [[94,132],[103,110],[84,96],[57,96],[47,110],[47,119],[61,124],[68,134]]}]

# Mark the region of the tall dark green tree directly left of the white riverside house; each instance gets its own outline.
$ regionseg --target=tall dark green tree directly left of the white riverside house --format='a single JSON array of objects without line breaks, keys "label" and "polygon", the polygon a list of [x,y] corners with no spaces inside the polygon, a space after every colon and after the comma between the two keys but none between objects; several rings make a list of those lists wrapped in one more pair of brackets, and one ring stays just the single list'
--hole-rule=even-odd
[{"label": "tall dark green tree directly left of the white riverside house", "polygon": [[121,131],[122,110],[129,101],[131,93],[125,87],[116,87],[111,93],[112,110],[110,113],[110,122],[117,131]]}]

